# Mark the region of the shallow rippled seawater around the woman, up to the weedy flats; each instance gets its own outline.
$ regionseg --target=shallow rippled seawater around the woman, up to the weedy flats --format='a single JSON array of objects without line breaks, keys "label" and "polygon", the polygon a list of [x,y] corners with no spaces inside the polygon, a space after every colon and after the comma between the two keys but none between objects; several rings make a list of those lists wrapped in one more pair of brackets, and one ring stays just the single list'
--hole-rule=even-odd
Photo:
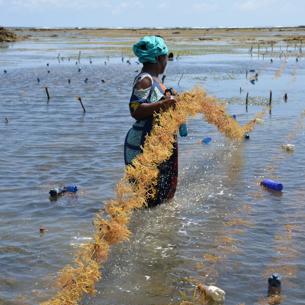
[{"label": "shallow rippled seawater around the woman, up to the weedy flats", "polygon": [[[55,294],[58,271],[79,250],[71,237],[92,236],[92,213],[124,173],[124,139],[134,122],[128,103],[141,69],[136,58],[128,64],[129,56],[108,60],[84,48],[78,62],[74,46],[53,50],[48,39],[36,49],[34,41],[0,49],[1,304],[41,303]],[[282,277],[278,302],[304,302],[305,62],[247,51],[168,62],[167,88],[183,92],[201,83],[241,125],[262,109],[264,124],[231,142],[201,117],[188,123],[188,136],[178,139],[175,197],[133,214],[130,242],[110,247],[98,291],[82,304],[178,304],[181,292],[195,304],[199,283],[223,289],[226,305],[267,304],[273,272]],[[75,59],[58,60],[58,53]],[[211,142],[198,145],[208,136]],[[282,192],[262,188],[264,179],[282,183]],[[50,188],[64,185],[79,191],[50,198]]]}]

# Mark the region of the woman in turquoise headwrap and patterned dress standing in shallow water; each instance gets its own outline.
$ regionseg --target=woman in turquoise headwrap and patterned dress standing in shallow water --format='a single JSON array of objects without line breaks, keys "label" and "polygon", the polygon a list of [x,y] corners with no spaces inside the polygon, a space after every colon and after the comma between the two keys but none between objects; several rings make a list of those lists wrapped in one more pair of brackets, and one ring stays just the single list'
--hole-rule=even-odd
[{"label": "woman in turquoise headwrap and patterned dress standing in shallow water", "polygon": [[[178,101],[174,90],[166,90],[159,80],[167,64],[168,49],[160,37],[148,36],[142,38],[133,46],[135,55],[143,63],[141,73],[135,77],[129,109],[131,116],[137,121],[128,131],[124,145],[125,164],[140,153],[140,146],[144,145],[145,136],[152,130],[156,122],[153,113],[160,109],[174,106]],[[168,91],[168,92],[165,92]],[[174,92],[173,92],[174,91]],[[159,165],[159,175],[155,185],[156,194],[147,201],[149,206],[157,205],[164,199],[173,198],[178,177],[178,143],[173,146],[173,154],[169,160]]]}]

